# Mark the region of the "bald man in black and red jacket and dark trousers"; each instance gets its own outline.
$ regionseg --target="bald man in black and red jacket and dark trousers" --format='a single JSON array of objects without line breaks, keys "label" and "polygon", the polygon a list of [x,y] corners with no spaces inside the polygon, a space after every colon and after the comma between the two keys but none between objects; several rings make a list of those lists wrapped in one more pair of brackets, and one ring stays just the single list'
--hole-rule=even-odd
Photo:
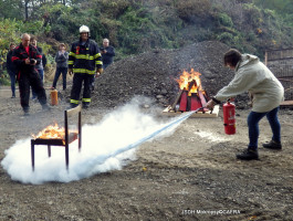
[{"label": "bald man in black and red jacket and dark trousers", "polygon": [[50,109],[46,104],[46,95],[42,80],[34,69],[36,64],[40,64],[42,55],[30,44],[30,34],[22,34],[20,45],[12,53],[12,62],[18,71],[20,104],[24,115],[28,115],[30,110],[30,86],[35,91],[43,109]]}]

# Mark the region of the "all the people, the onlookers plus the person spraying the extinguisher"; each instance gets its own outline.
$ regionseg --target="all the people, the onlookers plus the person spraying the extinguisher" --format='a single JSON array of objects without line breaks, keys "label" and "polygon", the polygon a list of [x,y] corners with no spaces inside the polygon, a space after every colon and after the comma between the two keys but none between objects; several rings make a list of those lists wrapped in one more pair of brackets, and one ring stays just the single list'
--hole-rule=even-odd
[{"label": "all the people, the onlookers plus the person spraying the extinguisher", "polygon": [[[36,66],[40,66],[42,54],[35,44],[30,44],[29,34],[23,34],[22,43],[14,49],[10,45],[11,52],[8,54],[8,71],[11,75],[11,82],[14,81],[14,72],[18,71],[18,81],[20,88],[21,106],[24,113],[29,112],[30,86],[35,92],[40,104],[48,109],[45,91]],[[91,85],[95,76],[103,73],[115,56],[114,48],[108,45],[108,40],[104,39],[103,48],[98,48],[96,42],[90,39],[90,29],[85,25],[80,28],[80,40],[71,46],[70,53],[65,45],[60,44],[55,61],[57,64],[55,77],[52,87],[56,86],[59,76],[63,75],[63,90],[66,88],[66,73],[74,74],[73,86],[71,91],[71,107],[76,107],[80,102],[82,86],[84,86],[82,104],[87,108],[91,103]],[[13,50],[13,51],[12,51]],[[12,55],[11,55],[12,53]],[[103,57],[103,61],[102,61]],[[13,65],[15,66],[15,70]],[[258,139],[259,122],[266,116],[271,129],[272,139],[263,144],[264,148],[281,150],[281,125],[278,118],[278,112],[284,97],[284,88],[273,73],[262,63],[259,57],[251,54],[241,54],[239,51],[229,50],[223,56],[223,64],[233,70],[236,75],[229,85],[220,90],[206,105],[213,108],[216,104],[228,98],[236,97],[239,94],[249,92],[252,97],[252,110],[248,116],[249,145],[243,152],[238,154],[237,158],[241,160],[259,159]],[[44,65],[44,64],[43,64]],[[14,87],[12,87],[12,97],[15,97]]]}]

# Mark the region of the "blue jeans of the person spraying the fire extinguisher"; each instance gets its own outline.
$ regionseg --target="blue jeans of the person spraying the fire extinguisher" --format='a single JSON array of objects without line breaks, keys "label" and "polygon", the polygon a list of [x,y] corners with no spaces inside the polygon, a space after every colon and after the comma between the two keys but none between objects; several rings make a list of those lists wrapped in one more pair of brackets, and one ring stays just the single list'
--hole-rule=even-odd
[{"label": "blue jeans of the person spraying the fire extinguisher", "polygon": [[258,140],[260,135],[259,122],[266,116],[273,137],[272,140],[281,143],[281,125],[278,119],[279,107],[265,113],[251,112],[248,116],[248,127],[249,127],[249,148],[258,149]]}]

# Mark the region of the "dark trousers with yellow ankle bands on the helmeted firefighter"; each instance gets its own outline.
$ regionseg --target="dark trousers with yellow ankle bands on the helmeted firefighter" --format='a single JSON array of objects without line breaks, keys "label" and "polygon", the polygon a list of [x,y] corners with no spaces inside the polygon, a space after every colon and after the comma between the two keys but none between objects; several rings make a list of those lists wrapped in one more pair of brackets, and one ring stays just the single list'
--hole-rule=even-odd
[{"label": "dark trousers with yellow ankle bands on the helmeted firefighter", "polygon": [[77,105],[80,101],[80,94],[83,86],[83,103],[91,103],[91,82],[93,81],[93,74],[75,73],[73,76],[73,85],[71,90],[71,104]]}]

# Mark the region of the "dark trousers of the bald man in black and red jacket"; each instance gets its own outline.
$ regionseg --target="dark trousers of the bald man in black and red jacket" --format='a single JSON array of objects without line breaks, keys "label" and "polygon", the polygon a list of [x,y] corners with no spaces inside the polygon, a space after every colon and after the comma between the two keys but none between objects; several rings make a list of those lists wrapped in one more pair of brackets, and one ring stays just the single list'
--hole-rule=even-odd
[{"label": "dark trousers of the bald man in black and red jacket", "polygon": [[23,109],[29,109],[30,105],[30,86],[36,93],[41,105],[46,104],[46,95],[43,82],[38,72],[21,73],[19,80],[20,104]]}]

